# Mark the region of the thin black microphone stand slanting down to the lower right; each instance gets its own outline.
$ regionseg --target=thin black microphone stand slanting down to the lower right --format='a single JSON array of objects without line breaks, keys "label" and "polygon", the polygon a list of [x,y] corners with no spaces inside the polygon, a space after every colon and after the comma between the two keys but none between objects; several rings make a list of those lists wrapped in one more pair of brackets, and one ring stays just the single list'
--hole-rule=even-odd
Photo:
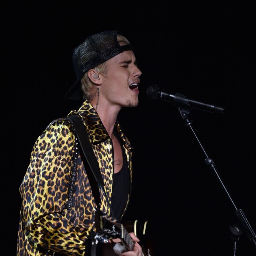
[{"label": "thin black microphone stand slanting down to the lower right", "polygon": [[216,165],[213,162],[211,158],[208,157],[206,151],[204,150],[202,144],[200,143],[200,140],[196,136],[196,133],[194,132],[192,128],[192,121],[188,119],[188,114],[190,110],[192,109],[191,106],[189,105],[189,102],[187,98],[182,95],[182,94],[175,94],[175,97],[173,99],[173,104],[177,107],[181,114],[181,118],[186,126],[188,126],[194,136],[196,137],[197,142],[199,143],[201,149],[203,150],[203,154],[205,155],[206,159],[204,160],[205,164],[209,166],[211,170],[215,171],[215,174],[218,177],[218,180],[222,184],[222,187],[224,188],[228,198],[230,199],[231,203],[233,204],[233,207],[235,208],[235,215],[237,216],[238,223],[234,224],[233,226],[230,226],[230,232],[232,233],[231,238],[234,241],[234,256],[236,255],[237,251],[237,241],[242,233],[244,233],[248,240],[256,246],[256,235],[254,231],[252,230],[252,227],[250,226],[247,218],[245,217],[244,212],[241,209],[237,209],[236,205],[234,204],[229,192],[225,188],[221,178],[219,177],[217,170],[216,170]]}]

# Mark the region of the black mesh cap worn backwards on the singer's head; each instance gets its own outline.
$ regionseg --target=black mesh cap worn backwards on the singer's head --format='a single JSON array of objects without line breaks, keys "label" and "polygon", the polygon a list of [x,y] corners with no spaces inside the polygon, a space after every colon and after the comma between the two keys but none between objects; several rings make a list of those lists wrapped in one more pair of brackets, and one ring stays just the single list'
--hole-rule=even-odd
[{"label": "black mesh cap worn backwards on the singer's head", "polygon": [[75,48],[72,60],[77,80],[65,94],[65,99],[83,100],[81,79],[88,70],[95,68],[119,53],[129,50],[134,51],[132,45],[119,45],[117,32],[117,30],[107,30],[89,36]]}]

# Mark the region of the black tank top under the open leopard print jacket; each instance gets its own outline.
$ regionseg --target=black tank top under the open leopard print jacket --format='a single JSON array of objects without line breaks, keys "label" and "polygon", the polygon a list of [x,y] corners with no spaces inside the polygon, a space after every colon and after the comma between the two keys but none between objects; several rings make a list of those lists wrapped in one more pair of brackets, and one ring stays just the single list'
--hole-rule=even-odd
[{"label": "black tank top under the open leopard print jacket", "polygon": [[115,218],[117,221],[120,221],[128,200],[128,194],[130,192],[130,177],[124,147],[119,136],[117,135],[117,132],[114,132],[114,134],[117,137],[122,149],[123,166],[118,173],[114,173],[111,207],[113,209]]}]

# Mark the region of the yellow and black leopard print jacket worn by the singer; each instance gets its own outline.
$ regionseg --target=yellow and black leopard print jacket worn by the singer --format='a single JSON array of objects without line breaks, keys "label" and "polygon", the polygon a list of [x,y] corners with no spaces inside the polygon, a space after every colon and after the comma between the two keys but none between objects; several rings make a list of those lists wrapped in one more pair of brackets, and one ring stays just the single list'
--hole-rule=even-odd
[{"label": "yellow and black leopard print jacket worn by the singer", "polygon": [[[112,141],[95,109],[86,100],[78,111],[85,125],[111,203],[113,190]],[[132,184],[132,146],[116,123]],[[86,242],[95,230],[96,203],[68,118],[54,120],[34,144],[30,164],[20,185],[21,210],[17,256],[86,255]],[[130,187],[131,193],[131,187]],[[100,191],[101,211],[110,209]],[[126,204],[126,211],[130,200]],[[124,215],[124,213],[123,213]],[[55,254],[54,254],[55,253]]]}]

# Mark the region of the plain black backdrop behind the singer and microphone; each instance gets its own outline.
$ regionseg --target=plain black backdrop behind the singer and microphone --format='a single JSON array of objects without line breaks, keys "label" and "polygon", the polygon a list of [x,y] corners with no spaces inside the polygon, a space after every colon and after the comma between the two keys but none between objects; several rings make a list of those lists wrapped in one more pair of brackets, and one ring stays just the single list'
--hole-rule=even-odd
[{"label": "plain black backdrop behind the singer and microphone", "polygon": [[[143,72],[139,106],[120,123],[136,156],[126,219],[148,220],[154,256],[232,256],[229,226],[242,209],[256,228],[254,1],[9,1],[1,7],[1,233],[15,255],[22,182],[35,140],[80,102],[64,100],[75,82],[73,49],[87,36],[120,30]],[[145,91],[225,107],[192,109],[191,129],[170,102]],[[237,256],[256,254],[242,234]]]}]

